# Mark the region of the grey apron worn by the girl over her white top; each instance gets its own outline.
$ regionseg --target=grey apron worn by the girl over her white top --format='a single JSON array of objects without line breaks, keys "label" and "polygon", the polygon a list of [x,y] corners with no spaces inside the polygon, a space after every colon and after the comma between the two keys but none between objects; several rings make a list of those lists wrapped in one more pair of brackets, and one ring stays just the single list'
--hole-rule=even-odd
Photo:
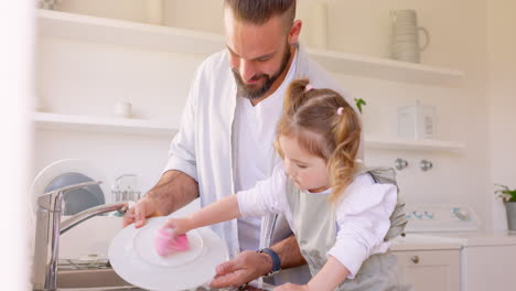
[{"label": "grey apron worn by the girl over her white top", "polygon": [[[394,175],[390,177],[393,173],[389,173],[388,169],[362,168],[356,176],[363,173],[369,173],[376,183],[396,184]],[[313,277],[326,263],[326,254],[336,241],[334,207],[329,200],[329,194],[310,194],[307,191],[300,191],[291,181],[287,183],[287,200],[292,212],[293,233]],[[400,235],[407,223],[404,204],[399,198],[395,212],[390,216],[390,222],[391,226],[385,237],[386,240]],[[397,273],[396,257],[387,252],[370,256],[364,261],[355,278],[346,279],[336,290],[390,291],[410,289],[401,287]]]}]

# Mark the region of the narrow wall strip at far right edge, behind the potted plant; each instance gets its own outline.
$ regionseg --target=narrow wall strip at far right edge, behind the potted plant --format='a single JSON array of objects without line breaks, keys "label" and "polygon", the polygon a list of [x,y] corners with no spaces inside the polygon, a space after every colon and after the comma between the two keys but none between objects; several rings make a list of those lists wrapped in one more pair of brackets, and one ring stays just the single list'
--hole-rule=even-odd
[{"label": "narrow wall strip at far right edge, behind the potted plant", "polygon": [[[492,194],[494,183],[516,187],[516,2],[487,1],[488,114]],[[493,198],[494,228],[506,228],[503,204]]]}]

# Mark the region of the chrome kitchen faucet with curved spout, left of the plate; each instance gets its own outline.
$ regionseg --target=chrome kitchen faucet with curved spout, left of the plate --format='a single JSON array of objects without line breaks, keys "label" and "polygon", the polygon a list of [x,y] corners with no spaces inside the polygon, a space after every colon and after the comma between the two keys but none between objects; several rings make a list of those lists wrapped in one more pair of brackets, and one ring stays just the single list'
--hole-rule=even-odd
[{"label": "chrome kitchen faucet with curved spout, left of the plate", "polygon": [[118,211],[125,213],[129,202],[122,201],[112,204],[103,204],[77,213],[61,223],[63,209],[63,195],[71,190],[100,184],[99,182],[85,182],[65,186],[37,197],[36,233],[34,244],[34,263],[32,273],[33,290],[57,290],[57,260],[60,254],[60,235],[96,215]]}]

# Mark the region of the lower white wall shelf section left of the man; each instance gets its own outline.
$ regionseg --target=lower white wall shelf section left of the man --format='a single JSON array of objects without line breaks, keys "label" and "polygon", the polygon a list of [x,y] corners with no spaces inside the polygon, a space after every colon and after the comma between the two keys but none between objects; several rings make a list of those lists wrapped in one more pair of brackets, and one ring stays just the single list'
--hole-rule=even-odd
[{"label": "lower white wall shelf section left of the man", "polygon": [[34,112],[36,129],[172,137],[179,125],[148,119]]}]

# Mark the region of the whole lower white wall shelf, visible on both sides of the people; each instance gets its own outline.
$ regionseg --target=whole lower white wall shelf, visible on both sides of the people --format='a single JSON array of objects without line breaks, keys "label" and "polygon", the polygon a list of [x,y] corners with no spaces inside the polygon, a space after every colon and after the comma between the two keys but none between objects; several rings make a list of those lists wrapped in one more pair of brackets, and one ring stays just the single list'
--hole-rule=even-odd
[{"label": "whole lower white wall shelf, visible on both sides of the people", "polygon": [[[49,112],[34,112],[33,120],[37,129],[112,132],[143,136],[172,137],[178,132],[179,123],[147,119],[117,117],[74,116]],[[366,149],[380,150],[437,150],[461,151],[461,142],[439,140],[374,139],[366,137]]]}]

